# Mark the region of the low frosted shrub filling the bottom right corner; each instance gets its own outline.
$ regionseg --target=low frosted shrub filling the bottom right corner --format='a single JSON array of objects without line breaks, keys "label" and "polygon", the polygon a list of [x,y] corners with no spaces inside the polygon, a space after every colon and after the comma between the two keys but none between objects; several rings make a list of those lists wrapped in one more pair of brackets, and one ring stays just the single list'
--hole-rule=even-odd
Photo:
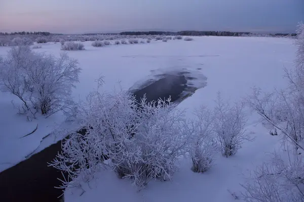
[{"label": "low frosted shrub filling the bottom right corner", "polygon": [[290,164],[276,155],[259,166],[242,184],[245,201],[304,201],[304,163],[300,158]]}]

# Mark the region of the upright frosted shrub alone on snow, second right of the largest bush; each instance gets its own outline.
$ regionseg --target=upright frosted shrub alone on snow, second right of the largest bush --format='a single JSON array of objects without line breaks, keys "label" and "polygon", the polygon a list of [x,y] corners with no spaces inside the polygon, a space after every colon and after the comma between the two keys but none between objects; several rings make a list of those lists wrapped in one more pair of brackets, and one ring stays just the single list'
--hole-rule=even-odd
[{"label": "upright frosted shrub alone on snow, second right of the largest bush", "polygon": [[235,155],[243,142],[250,140],[245,129],[247,120],[244,108],[244,103],[231,105],[218,93],[214,109],[214,132],[220,143],[222,155],[225,157]]}]

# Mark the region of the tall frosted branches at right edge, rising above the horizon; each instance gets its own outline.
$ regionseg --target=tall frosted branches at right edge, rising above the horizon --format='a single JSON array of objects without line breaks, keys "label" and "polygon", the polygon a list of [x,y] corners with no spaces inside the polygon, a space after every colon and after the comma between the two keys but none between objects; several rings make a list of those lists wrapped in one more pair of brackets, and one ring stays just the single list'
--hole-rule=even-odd
[{"label": "tall frosted branches at right edge, rising above the horizon", "polygon": [[297,57],[294,70],[285,69],[285,78],[289,81],[286,89],[272,93],[262,93],[253,88],[248,99],[249,106],[260,115],[262,121],[284,135],[295,149],[304,149],[300,144],[304,140],[304,25],[297,29]]}]

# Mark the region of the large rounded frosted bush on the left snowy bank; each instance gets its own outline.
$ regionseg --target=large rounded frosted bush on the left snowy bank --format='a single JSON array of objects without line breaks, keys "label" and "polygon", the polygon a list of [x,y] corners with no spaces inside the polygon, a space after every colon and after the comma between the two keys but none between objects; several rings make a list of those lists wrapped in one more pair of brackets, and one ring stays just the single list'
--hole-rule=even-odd
[{"label": "large rounded frosted bush on the left snowy bank", "polygon": [[29,46],[15,46],[0,64],[2,90],[20,98],[20,112],[40,111],[51,115],[72,106],[71,89],[79,81],[78,62],[66,54],[60,58],[32,52]]}]

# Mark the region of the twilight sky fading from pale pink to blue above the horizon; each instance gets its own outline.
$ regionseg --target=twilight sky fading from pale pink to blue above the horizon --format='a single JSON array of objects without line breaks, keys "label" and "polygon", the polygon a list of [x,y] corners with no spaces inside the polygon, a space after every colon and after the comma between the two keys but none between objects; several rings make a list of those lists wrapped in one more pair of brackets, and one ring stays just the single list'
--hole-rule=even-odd
[{"label": "twilight sky fading from pale pink to blue above the horizon", "polygon": [[294,32],[304,0],[0,0],[0,32]]}]

